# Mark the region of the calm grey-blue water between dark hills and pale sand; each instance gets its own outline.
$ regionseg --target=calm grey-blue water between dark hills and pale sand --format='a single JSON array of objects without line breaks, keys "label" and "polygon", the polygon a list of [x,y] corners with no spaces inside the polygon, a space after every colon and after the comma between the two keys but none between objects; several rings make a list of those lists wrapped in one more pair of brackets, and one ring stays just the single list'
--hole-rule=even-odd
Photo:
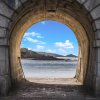
[{"label": "calm grey-blue water between dark hills and pale sand", "polygon": [[77,67],[77,61],[22,59],[21,63],[26,78],[73,78]]}]

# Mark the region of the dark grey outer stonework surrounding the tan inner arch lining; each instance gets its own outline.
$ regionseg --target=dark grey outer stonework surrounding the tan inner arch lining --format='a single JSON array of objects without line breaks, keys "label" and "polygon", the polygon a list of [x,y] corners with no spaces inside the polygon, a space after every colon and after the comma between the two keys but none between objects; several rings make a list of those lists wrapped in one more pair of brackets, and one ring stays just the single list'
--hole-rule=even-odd
[{"label": "dark grey outer stonework surrounding the tan inner arch lining", "polygon": [[[2,88],[0,88],[1,92],[2,93],[7,92],[11,82],[9,81],[10,80],[9,72],[11,71],[11,68],[9,68],[9,63],[8,63],[9,45],[11,46],[10,44],[11,42],[9,43],[9,40],[11,39],[10,33],[12,33],[12,30],[14,29],[14,27],[16,27],[16,23],[19,21],[19,19],[21,19],[22,16],[24,16],[25,12],[27,12],[27,9],[30,9],[30,11],[33,10],[33,8],[30,6],[31,3],[34,6],[38,4],[41,5],[41,6],[37,6],[36,8],[41,9],[42,7],[41,10],[43,11],[45,11],[46,10],[45,8],[47,8],[48,11],[47,15],[49,17],[52,16],[53,13],[56,13],[55,10],[60,12],[59,15],[61,14],[61,12],[63,13],[65,12],[64,14],[68,13],[70,16],[73,16],[74,19],[79,21],[80,24],[84,27],[85,32],[87,33],[87,38],[89,40],[88,52],[90,54],[87,57],[88,67],[86,68],[87,72],[85,75],[87,77],[84,78],[84,82],[89,87],[94,88],[97,94],[100,93],[99,92],[100,88],[98,88],[100,84],[100,68],[99,68],[100,65],[99,63],[100,62],[100,54],[99,54],[100,53],[100,13],[99,13],[100,0],[77,0],[78,2],[76,0],[40,0],[39,2],[37,1],[37,3],[35,3],[35,1],[37,0],[31,0],[31,1],[1,0],[0,1],[0,51],[1,51],[0,65],[2,66],[2,68],[0,67],[1,69],[0,84],[2,85]],[[59,5],[59,10],[57,8],[58,5]],[[73,10],[74,13],[72,13],[71,10]]]}]

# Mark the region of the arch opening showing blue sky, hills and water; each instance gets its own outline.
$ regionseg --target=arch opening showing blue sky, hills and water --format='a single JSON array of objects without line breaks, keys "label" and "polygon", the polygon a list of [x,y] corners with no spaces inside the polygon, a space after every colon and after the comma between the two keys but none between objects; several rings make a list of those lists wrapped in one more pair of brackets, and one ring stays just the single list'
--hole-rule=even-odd
[{"label": "arch opening showing blue sky, hills and water", "polygon": [[76,36],[57,21],[38,22],[22,38],[21,58],[27,80],[73,79],[78,63]]}]

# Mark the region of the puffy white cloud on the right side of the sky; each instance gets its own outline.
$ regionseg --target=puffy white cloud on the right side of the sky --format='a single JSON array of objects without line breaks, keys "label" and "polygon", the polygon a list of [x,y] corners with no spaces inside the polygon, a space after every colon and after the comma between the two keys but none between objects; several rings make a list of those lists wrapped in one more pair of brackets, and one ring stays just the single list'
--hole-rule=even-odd
[{"label": "puffy white cloud on the right side of the sky", "polygon": [[65,48],[65,49],[72,49],[72,48],[74,48],[73,44],[69,40],[66,40],[65,42],[56,42],[55,45],[57,47]]}]

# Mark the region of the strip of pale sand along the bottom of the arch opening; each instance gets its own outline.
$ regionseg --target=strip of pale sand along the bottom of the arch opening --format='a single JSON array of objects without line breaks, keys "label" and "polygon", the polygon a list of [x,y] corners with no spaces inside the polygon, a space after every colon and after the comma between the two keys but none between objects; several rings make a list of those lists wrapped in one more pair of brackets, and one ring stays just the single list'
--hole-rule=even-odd
[{"label": "strip of pale sand along the bottom of the arch opening", "polygon": [[26,78],[26,80],[34,83],[42,84],[60,84],[60,85],[82,85],[76,78]]}]

